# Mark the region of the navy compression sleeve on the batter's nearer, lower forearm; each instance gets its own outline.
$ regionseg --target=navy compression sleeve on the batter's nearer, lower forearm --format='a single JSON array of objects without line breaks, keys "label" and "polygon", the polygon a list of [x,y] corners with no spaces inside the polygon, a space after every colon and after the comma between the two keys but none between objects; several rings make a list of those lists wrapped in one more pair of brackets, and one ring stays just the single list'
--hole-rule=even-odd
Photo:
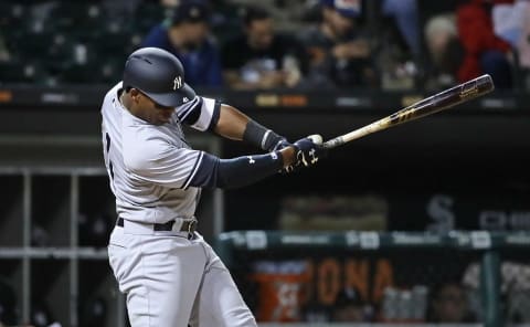
[{"label": "navy compression sleeve on the batter's nearer, lower forearm", "polygon": [[278,151],[267,155],[220,159],[204,154],[190,186],[200,188],[240,188],[273,176],[283,168]]}]

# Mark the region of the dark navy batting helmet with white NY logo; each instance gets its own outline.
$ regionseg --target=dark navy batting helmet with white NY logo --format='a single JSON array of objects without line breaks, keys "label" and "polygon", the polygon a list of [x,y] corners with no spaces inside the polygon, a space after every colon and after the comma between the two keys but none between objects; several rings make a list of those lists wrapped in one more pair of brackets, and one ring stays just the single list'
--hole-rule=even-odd
[{"label": "dark navy batting helmet with white NY logo", "polygon": [[178,107],[195,97],[195,92],[184,83],[184,68],[180,61],[158,48],[142,48],[132,52],[124,70],[124,87],[134,87],[153,102],[167,107]]}]

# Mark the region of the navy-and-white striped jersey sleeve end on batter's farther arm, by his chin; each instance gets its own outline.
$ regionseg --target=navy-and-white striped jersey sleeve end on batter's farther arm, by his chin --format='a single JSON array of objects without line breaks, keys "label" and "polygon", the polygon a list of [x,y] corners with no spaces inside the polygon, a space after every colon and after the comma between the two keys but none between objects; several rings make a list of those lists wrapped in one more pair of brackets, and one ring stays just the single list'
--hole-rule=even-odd
[{"label": "navy-and-white striped jersey sleeve end on batter's farther arm, by his chin", "polygon": [[197,96],[177,108],[179,120],[198,130],[211,130],[219,120],[221,103],[213,98]]}]

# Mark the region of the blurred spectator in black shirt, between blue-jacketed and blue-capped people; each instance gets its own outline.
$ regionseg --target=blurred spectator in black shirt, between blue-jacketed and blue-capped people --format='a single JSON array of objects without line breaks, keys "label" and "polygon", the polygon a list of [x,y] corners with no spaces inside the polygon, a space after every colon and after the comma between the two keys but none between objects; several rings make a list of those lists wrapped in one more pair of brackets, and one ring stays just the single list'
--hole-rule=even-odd
[{"label": "blurred spectator in black shirt, between blue-jacketed and blue-capped people", "polygon": [[294,87],[307,65],[304,46],[293,36],[274,32],[271,14],[247,7],[244,32],[222,49],[224,78],[240,89]]}]

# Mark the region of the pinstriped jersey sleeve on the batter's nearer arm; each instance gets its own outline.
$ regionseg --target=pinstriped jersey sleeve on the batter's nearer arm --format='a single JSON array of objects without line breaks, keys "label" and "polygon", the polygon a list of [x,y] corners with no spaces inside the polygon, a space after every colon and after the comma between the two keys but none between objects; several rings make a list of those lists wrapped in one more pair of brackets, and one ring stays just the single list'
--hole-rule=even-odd
[{"label": "pinstriped jersey sleeve on the batter's nearer arm", "polygon": [[168,188],[186,189],[197,173],[204,152],[151,140],[131,148],[124,162],[134,176]]}]

